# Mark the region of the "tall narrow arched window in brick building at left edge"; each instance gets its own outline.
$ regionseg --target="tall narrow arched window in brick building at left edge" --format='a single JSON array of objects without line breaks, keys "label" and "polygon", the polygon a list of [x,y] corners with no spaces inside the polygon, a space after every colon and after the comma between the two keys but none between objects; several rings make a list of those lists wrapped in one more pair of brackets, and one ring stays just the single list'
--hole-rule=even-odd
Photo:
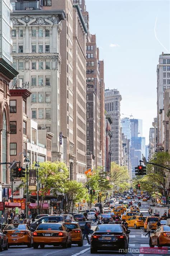
[{"label": "tall narrow arched window in brick building at left edge", "polygon": [[[3,113],[3,140],[2,140],[2,149],[3,149],[3,152],[2,152],[2,155],[3,155],[3,162],[6,162],[6,157],[7,157],[7,147],[6,147],[6,140],[7,140],[7,137],[6,137],[6,115],[5,115],[5,112]],[[3,165],[3,177],[2,177],[2,182],[3,183],[6,183],[6,164]]]}]

